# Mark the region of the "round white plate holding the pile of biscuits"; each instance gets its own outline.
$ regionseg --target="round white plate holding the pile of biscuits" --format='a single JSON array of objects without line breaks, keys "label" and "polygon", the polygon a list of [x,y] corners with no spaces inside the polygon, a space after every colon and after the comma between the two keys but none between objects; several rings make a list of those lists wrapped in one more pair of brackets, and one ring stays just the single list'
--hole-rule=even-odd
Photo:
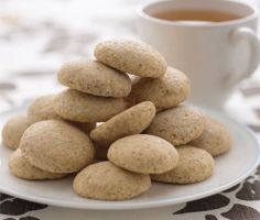
[{"label": "round white plate holding the pile of biscuits", "polygon": [[[6,112],[0,116],[0,130],[8,118],[21,113],[24,109]],[[29,182],[15,178],[8,170],[8,156],[11,153],[0,146],[0,190],[9,195],[59,207],[82,209],[140,209],[162,207],[199,199],[225,190],[250,175],[257,167],[260,148],[252,132],[243,125],[216,111],[206,111],[224,122],[234,136],[230,152],[216,158],[216,169],[209,179],[193,185],[153,184],[151,189],[126,201],[98,201],[84,199],[74,194],[71,178],[62,180]]]}]

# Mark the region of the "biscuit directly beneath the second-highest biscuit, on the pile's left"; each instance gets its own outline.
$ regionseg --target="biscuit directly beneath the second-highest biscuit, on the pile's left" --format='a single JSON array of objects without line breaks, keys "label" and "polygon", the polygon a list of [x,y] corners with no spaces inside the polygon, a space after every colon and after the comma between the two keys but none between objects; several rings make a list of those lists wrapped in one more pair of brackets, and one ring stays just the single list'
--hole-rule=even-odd
[{"label": "biscuit directly beneath the second-highest biscuit, on the pile's left", "polygon": [[78,122],[102,122],[128,107],[122,98],[97,97],[67,89],[55,98],[54,109],[64,119]]}]

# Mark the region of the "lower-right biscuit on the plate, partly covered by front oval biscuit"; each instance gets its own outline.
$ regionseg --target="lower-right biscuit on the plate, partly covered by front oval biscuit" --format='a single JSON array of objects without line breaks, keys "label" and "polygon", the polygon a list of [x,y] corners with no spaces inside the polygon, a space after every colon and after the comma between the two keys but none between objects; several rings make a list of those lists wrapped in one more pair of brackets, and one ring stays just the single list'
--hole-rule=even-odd
[{"label": "lower-right biscuit on the plate, partly covered by front oval biscuit", "polygon": [[215,162],[209,153],[202,148],[183,145],[177,148],[178,164],[164,174],[151,175],[152,180],[170,184],[193,184],[210,177]]}]

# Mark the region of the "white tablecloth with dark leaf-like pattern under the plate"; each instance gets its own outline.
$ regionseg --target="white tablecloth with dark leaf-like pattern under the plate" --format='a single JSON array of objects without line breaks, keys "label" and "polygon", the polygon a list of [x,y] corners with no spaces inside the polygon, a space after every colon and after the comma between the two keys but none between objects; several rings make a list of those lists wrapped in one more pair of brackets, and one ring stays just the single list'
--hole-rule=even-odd
[{"label": "white tablecloth with dark leaf-like pattern under the plate", "polygon": [[[98,41],[134,37],[139,0],[1,0],[0,112],[28,103],[61,86],[55,70],[65,61],[91,56]],[[226,111],[260,132],[260,74],[245,81]],[[260,135],[259,135],[260,138]],[[260,219],[260,167],[243,183],[217,195],[158,209],[91,211],[34,204],[0,194],[4,220],[257,220]]]}]

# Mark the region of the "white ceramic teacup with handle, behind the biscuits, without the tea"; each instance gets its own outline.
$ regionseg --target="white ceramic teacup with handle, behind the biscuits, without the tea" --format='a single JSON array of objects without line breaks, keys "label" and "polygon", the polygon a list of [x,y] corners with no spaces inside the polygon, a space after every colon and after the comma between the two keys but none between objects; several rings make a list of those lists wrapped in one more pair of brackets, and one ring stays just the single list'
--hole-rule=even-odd
[{"label": "white ceramic teacup with handle, behind the biscuits, without the tea", "polygon": [[[154,16],[177,9],[217,10],[240,18],[188,22]],[[234,86],[258,67],[258,9],[253,6],[229,0],[170,0],[147,3],[138,13],[141,40],[161,52],[169,65],[189,77],[189,100],[194,103],[221,108]]]}]

